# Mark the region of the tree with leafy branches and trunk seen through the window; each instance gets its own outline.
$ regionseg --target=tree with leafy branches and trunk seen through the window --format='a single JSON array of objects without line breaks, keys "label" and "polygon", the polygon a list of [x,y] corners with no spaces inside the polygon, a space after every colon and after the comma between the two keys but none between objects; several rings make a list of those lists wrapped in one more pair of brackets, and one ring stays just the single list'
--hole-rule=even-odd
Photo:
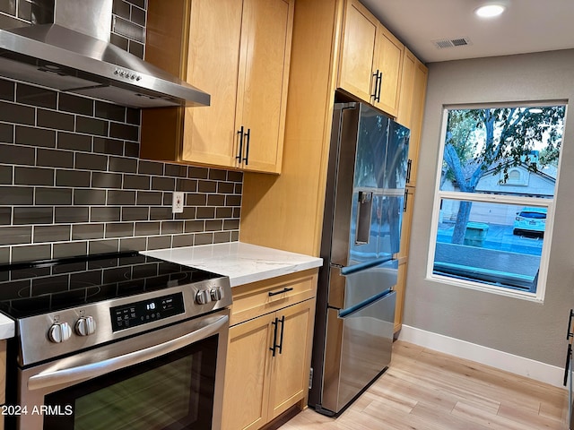
[{"label": "tree with leafy branches and trunk seen through the window", "polygon": [[[474,193],[483,174],[493,169],[508,179],[509,168],[532,171],[557,163],[564,122],[564,106],[496,107],[448,111],[444,149],[444,177],[460,191]],[[533,151],[543,144],[541,157]],[[452,243],[463,244],[472,202],[460,202]]]}]

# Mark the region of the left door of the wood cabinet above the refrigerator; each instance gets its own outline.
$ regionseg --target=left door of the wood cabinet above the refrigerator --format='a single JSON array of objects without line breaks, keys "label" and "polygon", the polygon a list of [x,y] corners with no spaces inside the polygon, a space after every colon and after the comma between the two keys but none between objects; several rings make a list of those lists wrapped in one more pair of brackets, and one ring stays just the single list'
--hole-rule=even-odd
[{"label": "left door of the wood cabinet above the refrigerator", "polygon": [[359,1],[347,1],[338,86],[368,103],[372,102],[376,81],[373,64],[378,25],[377,19]]}]

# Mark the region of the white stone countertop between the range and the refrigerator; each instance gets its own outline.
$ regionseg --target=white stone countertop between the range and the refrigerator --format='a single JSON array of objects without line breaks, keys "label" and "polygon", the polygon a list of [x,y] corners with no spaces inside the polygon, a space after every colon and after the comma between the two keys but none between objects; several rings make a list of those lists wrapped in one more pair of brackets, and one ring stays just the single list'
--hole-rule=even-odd
[{"label": "white stone countertop between the range and the refrigerator", "polygon": [[231,287],[320,267],[323,259],[230,242],[145,251],[142,254],[230,277]]}]

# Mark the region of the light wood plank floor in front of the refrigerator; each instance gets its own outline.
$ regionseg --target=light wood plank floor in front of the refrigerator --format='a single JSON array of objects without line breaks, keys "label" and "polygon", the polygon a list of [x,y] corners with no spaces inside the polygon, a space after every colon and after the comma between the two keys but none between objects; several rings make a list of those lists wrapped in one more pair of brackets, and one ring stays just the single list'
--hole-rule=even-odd
[{"label": "light wood plank floor in front of the refrigerator", "polygon": [[280,430],[566,430],[567,416],[565,390],[399,340],[340,417],[306,409]]}]

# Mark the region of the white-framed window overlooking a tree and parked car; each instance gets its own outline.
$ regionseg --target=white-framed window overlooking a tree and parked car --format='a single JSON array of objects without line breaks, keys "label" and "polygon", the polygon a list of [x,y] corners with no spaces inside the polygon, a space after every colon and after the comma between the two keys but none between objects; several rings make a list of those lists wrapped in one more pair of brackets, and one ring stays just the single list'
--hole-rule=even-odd
[{"label": "white-framed window overlooking a tree and parked car", "polygon": [[564,104],[445,109],[428,276],[544,299]]}]

